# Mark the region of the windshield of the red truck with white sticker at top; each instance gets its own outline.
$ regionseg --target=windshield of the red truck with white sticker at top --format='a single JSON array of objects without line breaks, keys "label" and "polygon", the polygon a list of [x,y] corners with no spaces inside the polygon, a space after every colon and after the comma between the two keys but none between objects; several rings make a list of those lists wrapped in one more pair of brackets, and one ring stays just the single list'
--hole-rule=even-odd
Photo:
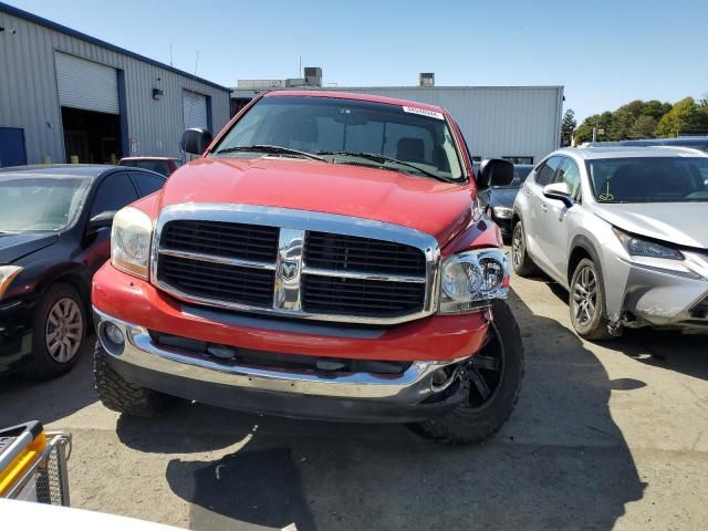
[{"label": "windshield of the red truck with white sticker at top", "polygon": [[464,179],[445,116],[418,107],[334,97],[263,97],[211,156],[252,157],[259,146],[275,156],[301,152],[330,163]]}]

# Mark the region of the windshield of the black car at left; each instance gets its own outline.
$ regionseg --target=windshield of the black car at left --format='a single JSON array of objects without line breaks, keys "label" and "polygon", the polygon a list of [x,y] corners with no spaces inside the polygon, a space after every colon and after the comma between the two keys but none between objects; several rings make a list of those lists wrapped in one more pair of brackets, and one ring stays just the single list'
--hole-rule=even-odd
[{"label": "windshield of the black car at left", "polygon": [[0,175],[0,232],[56,231],[69,227],[90,179]]}]

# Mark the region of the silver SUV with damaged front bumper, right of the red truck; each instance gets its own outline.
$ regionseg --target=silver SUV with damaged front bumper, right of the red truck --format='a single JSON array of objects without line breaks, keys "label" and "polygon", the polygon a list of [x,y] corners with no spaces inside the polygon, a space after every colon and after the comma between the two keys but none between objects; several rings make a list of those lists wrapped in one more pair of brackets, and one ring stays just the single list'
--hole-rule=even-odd
[{"label": "silver SUV with damaged front bumper, right of the red truck", "polygon": [[559,149],[513,206],[512,263],[570,292],[579,335],[708,331],[708,155],[674,147]]}]

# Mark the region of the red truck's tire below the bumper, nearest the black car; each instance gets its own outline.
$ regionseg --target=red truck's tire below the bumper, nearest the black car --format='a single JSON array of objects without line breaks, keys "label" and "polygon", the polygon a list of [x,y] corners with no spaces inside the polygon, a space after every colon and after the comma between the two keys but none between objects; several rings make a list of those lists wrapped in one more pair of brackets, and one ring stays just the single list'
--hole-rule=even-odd
[{"label": "red truck's tire below the bumper, nearest the black car", "polygon": [[101,342],[96,341],[94,383],[98,398],[108,409],[136,417],[155,417],[176,402],[169,395],[126,381],[108,365],[107,356]]}]

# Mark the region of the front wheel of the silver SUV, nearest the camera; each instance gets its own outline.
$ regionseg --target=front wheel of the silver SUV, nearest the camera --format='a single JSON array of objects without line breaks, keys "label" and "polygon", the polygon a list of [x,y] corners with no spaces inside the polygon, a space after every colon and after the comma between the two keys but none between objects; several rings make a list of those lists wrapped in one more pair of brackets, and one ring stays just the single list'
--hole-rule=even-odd
[{"label": "front wheel of the silver SUV, nearest the camera", "polygon": [[612,337],[604,315],[605,289],[602,271],[592,260],[580,261],[570,287],[571,322],[577,335],[585,340],[602,341]]}]

